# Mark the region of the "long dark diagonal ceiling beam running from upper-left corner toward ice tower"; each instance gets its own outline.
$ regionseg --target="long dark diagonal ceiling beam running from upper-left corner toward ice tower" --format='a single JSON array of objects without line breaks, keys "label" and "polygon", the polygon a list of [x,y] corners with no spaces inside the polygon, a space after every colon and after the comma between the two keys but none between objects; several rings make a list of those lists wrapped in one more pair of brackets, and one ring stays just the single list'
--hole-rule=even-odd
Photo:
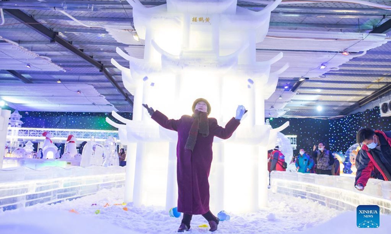
[{"label": "long dark diagonal ceiling beam running from upper-left corner toward ice tower", "polygon": [[44,27],[42,24],[40,24],[37,20],[34,20],[32,17],[24,14],[21,10],[12,10],[12,9],[4,9],[4,11],[15,18],[16,20],[19,20],[23,23],[26,23],[26,25],[32,29],[34,29],[36,32],[40,33],[44,37],[50,39],[51,41],[54,41],[62,46],[64,46],[67,50],[75,54],[76,56],[86,60],[87,62],[91,63],[94,67],[98,68],[104,75],[105,77],[111,82],[111,84],[117,89],[117,91],[125,98],[125,100],[128,101],[130,105],[133,105],[133,101],[129,98],[128,94],[126,94],[123,90],[122,87],[118,85],[118,83],[115,81],[115,79],[109,74],[107,71],[106,67],[89,57],[87,54],[76,48],[74,45],[66,41],[65,39],[60,38],[57,35],[57,32],[54,32],[50,29],[47,29]]}]

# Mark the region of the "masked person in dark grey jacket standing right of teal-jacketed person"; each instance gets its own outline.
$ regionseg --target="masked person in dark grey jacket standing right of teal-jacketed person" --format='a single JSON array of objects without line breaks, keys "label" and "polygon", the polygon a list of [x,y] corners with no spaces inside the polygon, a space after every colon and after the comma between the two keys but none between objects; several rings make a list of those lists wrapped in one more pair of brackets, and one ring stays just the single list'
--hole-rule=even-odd
[{"label": "masked person in dark grey jacket standing right of teal-jacketed person", "polygon": [[331,176],[331,165],[334,164],[334,156],[330,156],[330,151],[326,150],[323,142],[319,142],[318,150],[316,150],[316,145],[314,145],[312,159],[316,164],[316,174]]}]

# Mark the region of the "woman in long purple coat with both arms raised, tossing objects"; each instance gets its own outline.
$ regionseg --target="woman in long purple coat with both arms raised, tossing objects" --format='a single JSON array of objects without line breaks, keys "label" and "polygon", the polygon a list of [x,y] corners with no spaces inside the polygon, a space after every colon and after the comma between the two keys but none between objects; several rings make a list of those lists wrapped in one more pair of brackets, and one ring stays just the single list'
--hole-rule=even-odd
[{"label": "woman in long purple coat with both arms raised, tossing objects", "polygon": [[219,219],[209,210],[209,172],[212,164],[213,138],[228,139],[240,124],[247,111],[239,106],[236,117],[225,125],[217,124],[216,118],[208,118],[211,106],[204,98],[193,103],[193,115],[184,115],[180,119],[168,119],[159,111],[143,104],[153,120],[162,127],[178,132],[176,146],[176,177],[178,182],[178,211],[183,219],[178,232],[188,231],[193,215],[202,215],[208,220],[211,229],[217,230]]}]

